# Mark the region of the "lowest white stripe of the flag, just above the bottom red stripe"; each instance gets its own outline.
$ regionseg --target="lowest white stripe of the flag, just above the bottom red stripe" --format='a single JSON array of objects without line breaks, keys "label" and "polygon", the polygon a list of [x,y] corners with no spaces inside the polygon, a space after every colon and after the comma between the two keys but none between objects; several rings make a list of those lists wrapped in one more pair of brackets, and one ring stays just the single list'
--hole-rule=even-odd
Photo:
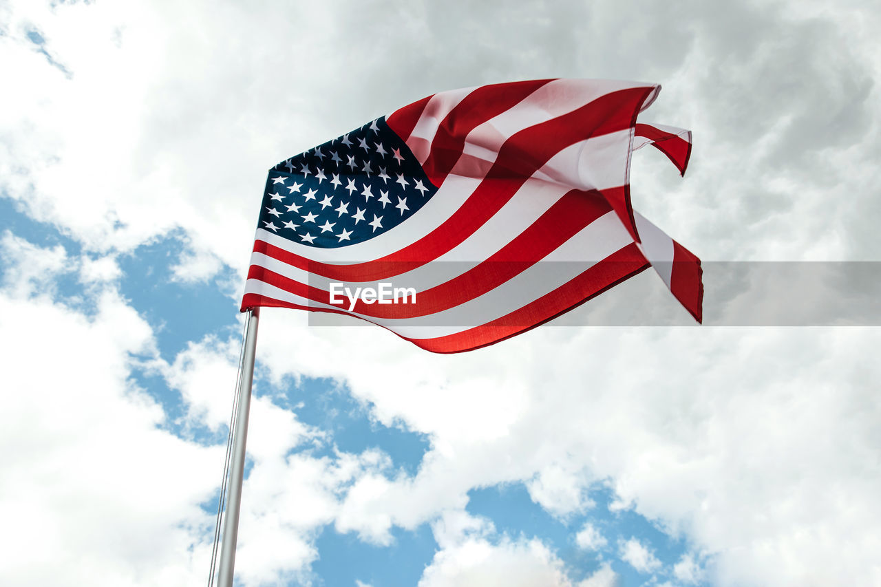
[{"label": "lowest white stripe of the flag, just above the bottom red stripe", "polygon": [[[585,261],[586,257],[603,259],[631,242],[633,240],[615,212],[608,212],[575,234],[559,249],[545,256],[542,263],[532,265],[501,286],[454,308],[415,318],[374,318],[356,313],[352,313],[352,316],[364,317],[407,338],[448,336],[507,316],[599,263],[596,260]],[[554,263],[564,261],[573,263]],[[248,279],[245,293],[263,294],[311,308],[339,309],[321,302],[308,301],[255,279]]]}]

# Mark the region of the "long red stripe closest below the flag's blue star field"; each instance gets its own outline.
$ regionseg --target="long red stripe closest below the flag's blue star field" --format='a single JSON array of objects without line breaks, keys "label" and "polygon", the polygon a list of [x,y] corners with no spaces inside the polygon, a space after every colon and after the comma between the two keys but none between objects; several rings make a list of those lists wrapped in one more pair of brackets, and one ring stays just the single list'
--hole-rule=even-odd
[{"label": "long red stripe closest below the flag's blue star field", "polygon": [[[608,93],[566,115],[515,133],[501,146],[498,158],[478,188],[452,216],[430,234],[380,259],[351,265],[323,264],[309,261],[305,257],[278,249],[263,241],[255,242],[255,250],[259,247],[261,250],[258,252],[266,253],[279,261],[339,281],[389,279],[400,272],[389,272],[389,269],[399,270],[400,264],[411,264],[409,267],[414,269],[455,248],[482,227],[507,204],[511,197],[514,197],[529,176],[543,167],[561,149],[586,137],[595,137],[632,126],[640,104],[651,91],[652,88],[640,87]],[[623,193],[621,189],[624,190]],[[622,212],[615,206],[620,205],[622,200],[626,211],[629,211],[630,198],[627,186],[603,190],[603,196],[616,209],[619,217]],[[633,225],[632,212],[631,225]],[[632,234],[635,234],[635,229]]]}]

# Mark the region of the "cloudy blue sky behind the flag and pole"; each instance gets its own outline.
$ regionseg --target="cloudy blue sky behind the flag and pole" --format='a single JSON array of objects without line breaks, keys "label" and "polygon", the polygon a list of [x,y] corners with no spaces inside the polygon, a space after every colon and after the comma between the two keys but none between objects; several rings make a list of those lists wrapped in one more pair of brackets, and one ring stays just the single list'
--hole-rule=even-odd
[{"label": "cloudy blue sky behind the flag and pole", "polygon": [[881,584],[877,30],[861,0],[0,0],[0,583],[206,583],[266,170],[559,77],[660,83],[649,122],[693,131],[685,178],[643,149],[631,184],[707,323],[648,271],[455,355],[264,309],[237,582]]}]

